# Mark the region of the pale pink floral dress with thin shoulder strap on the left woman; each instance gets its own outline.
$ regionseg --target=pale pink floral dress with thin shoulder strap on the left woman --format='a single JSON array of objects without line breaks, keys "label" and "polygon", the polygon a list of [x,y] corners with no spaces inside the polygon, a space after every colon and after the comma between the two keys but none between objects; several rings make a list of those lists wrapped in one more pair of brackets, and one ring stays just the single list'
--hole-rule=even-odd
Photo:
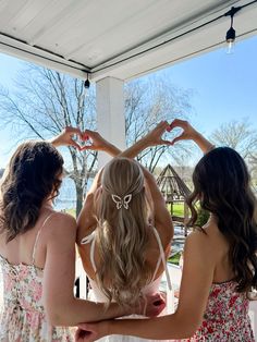
[{"label": "pale pink floral dress with thin shoulder strap on the left woman", "polygon": [[1,342],[74,341],[68,327],[52,327],[46,320],[42,306],[44,270],[35,266],[40,232],[41,229],[34,245],[32,265],[12,265],[0,255],[3,277],[3,305],[0,307]]}]

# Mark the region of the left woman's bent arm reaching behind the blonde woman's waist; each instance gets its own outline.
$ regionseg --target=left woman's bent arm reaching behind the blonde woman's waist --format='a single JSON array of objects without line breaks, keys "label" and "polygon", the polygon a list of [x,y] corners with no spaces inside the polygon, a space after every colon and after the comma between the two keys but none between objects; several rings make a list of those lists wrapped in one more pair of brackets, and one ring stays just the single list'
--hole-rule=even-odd
[{"label": "left woman's bent arm reaching behind the blonde woman's waist", "polygon": [[[98,321],[134,313],[142,313],[144,305],[125,310],[115,303],[106,309],[105,304],[75,298],[73,284],[75,278],[76,221],[63,213],[56,213],[45,230],[46,264],[44,269],[44,306],[48,320],[53,326],[77,326],[82,321]],[[158,296],[159,298],[159,296]],[[159,314],[152,297],[147,307],[148,316]]]}]

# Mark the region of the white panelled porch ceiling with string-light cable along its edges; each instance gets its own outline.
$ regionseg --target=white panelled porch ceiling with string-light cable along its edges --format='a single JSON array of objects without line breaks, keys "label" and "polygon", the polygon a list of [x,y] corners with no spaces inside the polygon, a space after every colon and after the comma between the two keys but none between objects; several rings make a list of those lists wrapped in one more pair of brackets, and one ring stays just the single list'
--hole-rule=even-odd
[{"label": "white panelled porch ceiling with string-light cable along its edges", "polygon": [[[0,0],[0,51],[78,77],[127,80],[224,44],[223,14],[248,2]],[[235,14],[237,39],[257,34],[253,2]]]}]

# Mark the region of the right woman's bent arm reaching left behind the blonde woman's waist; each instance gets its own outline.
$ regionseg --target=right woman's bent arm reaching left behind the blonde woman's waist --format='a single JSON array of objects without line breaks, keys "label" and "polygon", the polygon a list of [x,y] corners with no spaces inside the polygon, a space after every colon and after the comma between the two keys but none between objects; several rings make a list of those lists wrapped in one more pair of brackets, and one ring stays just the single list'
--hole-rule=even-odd
[{"label": "right woman's bent arm reaching left behind the blonde woman's waist", "polygon": [[[95,341],[108,334],[135,335],[144,339],[185,339],[200,326],[213,279],[215,260],[209,253],[208,236],[194,232],[186,239],[180,302],[174,314],[144,320],[111,320],[79,325],[77,341]],[[203,260],[205,260],[203,262]],[[189,284],[189,285],[188,285]],[[90,332],[90,333],[89,333]]]}]

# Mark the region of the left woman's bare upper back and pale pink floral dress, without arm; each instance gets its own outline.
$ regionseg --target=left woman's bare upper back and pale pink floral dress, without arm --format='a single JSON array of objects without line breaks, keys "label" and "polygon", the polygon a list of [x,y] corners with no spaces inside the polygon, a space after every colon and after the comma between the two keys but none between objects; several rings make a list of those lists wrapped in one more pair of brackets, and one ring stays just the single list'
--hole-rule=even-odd
[{"label": "left woman's bare upper back and pale pink floral dress, without arm", "polygon": [[0,235],[3,305],[0,341],[72,341],[68,328],[53,328],[46,320],[42,281],[46,258],[44,230],[56,213],[41,210],[36,225],[8,244]]}]

